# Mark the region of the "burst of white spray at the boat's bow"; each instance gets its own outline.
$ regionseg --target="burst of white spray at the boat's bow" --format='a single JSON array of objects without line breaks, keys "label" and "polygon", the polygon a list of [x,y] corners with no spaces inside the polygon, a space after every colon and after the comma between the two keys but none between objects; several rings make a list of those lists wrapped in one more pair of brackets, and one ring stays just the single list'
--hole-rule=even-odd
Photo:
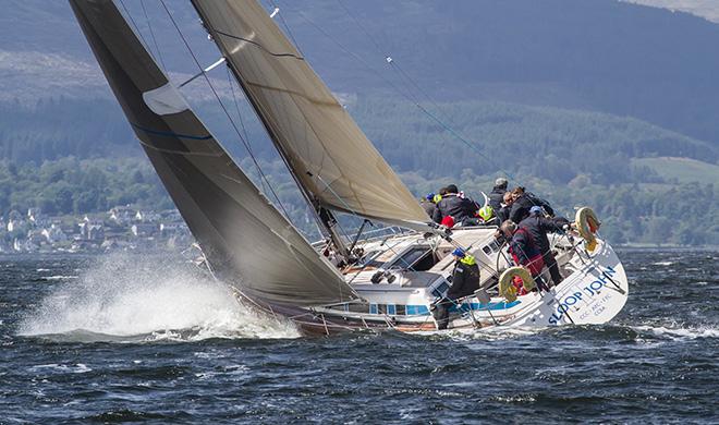
[{"label": "burst of white spray at the boat's bow", "polygon": [[[113,254],[61,280],[20,323],[20,336],[73,341],[295,338],[289,323],[255,314],[229,287],[178,262]],[[160,263],[160,264],[158,264]]]}]

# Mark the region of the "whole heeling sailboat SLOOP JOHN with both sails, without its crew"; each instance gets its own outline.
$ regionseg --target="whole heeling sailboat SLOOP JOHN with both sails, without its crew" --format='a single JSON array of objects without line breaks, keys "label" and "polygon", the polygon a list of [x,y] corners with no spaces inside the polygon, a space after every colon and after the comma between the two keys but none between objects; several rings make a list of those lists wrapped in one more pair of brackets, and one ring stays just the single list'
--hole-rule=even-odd
[{"label": "whole heeling sailboat SLOOP JOHN with both sails, without its crew", "polygon": [[[626,275],[596,236],[596,218],[589,230],[580,222],[585,238],[553,238],[561,284],[519,296],[497,290],[516,268],[496,227],[431,222],[258,1],[192,0],[326,236],[309,243],[200,122],[112,0],[70,3],[206,264],[241,302],[307,332],[432,331],[450,253],[462,247],[480,266],[482,288],[458,300],[450,330],[602,324],[624,306]],[[338,212],[400,230],[348,240]]]}]

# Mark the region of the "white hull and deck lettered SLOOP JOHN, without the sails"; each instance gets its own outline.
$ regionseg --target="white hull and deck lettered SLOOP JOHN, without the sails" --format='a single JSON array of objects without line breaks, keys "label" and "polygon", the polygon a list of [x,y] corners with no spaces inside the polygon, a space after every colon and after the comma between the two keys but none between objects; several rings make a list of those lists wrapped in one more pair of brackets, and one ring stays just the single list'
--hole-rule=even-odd
[{"label": "white hull and deck lettered SLOOP JOHN, without the sails", "polygon": [[[462,232],[468,234],[472,230],[455,232],[458,240],[463,236]],[[479,236],[479,241],[490,241],[491,233],[492,229],[475,229],[473,236]],[[467,298],[460,304],[460,311],[455,308],[450,316],[449,329],[605,324],[619,314],[626,303],[629,284],[624,267],[611,246],[599,240],[595,252],[589,254],[584,251],[583,243],[572,244],[566,238],[557,238],[552,242],[560,252],[557,258],[565,277],[558,287],[546,293],[532,292],[519,296],[511,303],[500,296],[492,296],[489,303],[485,304],[477,298]],[[385,244],[389,242],[386,241]],[[473,254],[484,258],[480,266],[483,282],[486,282],[492,272],[496,274],[492,266],[507,266],[499,250],[483,257],[483,243],[474,246],[476,251]],[[447,258],[446,263],[447,265],[442,264],[442,260],[438,262],[435,266],[438,270],[430,269],[426,274],[398,271],[397,279],[391,283],[369,282],[367,276],[374,271],[348,274],[348,280],[353,282],[353,288],[366,303],[312,308],[313,320],[306,324],[321,321],[329,330],[333,326],[387,327],[407,332],[434,330],[436,324],[430,313],[430,304],[436,294],[432,294],[432,289],[451,272],[451,267],[448,267],[451,266],[451,258]],[[437,282],[422,283],[427,276],[430,279],[436,276]],[[411,279],[418,279],[419,282],[412,282]],[[304,324],[302,319],[298,321]]]}]

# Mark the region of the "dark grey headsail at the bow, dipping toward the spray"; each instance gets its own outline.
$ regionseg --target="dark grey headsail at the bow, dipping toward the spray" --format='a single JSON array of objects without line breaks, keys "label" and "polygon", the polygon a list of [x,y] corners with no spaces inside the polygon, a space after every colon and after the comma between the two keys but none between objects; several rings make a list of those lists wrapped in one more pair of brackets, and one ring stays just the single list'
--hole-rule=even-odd
[{"label": "dark grey headsail at the bow, dipping toward the spray", "polygon": [[190,110],[111,0],[70,0],[143,148],[216,275],[246,295],[313,305],[355,292]]}]

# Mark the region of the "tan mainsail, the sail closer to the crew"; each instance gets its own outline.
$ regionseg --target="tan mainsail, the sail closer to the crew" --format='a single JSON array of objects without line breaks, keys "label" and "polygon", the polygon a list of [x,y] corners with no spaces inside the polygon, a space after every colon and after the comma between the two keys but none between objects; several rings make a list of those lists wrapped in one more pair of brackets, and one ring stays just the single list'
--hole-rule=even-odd
[{"label": "tan mainsail, the sail closer to the crew", "polygon": [[426,229],[426,212],[256,0],[192,0],[290,171],[321,206]]}]

